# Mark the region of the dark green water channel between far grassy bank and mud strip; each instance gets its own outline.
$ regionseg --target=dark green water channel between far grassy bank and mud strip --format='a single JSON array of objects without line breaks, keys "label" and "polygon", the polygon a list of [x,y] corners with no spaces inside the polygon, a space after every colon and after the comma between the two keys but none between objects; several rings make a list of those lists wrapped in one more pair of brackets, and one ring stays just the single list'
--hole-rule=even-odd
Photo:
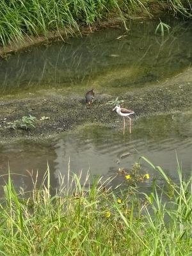
[{"label": "dark green water channel between far grassy bank and mud strip", "polygon": [[131,22],[129,31],[106,29],[67,42],[42,45],[0,61],[0,92],[39,88],[78,92],[159,83],[191,65],[192,29],[173,23],[164,38],[155,35],[158,22]]}]

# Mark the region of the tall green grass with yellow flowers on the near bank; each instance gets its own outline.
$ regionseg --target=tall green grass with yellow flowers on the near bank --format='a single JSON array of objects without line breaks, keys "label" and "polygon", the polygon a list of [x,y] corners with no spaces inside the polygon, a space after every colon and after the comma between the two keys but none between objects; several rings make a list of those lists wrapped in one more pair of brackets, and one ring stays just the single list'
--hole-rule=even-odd
[{"label": "tall green grass with yellow flowers on the near bank", "polygon": [[[174,184],[159,166],[141,157],[164,179],[142,193],[125,179],[114,191],[110,180],[68,176],[51,195],[49,167],[42,186],[17,195],[11,175],[0,204],[1,255],[191,255],[191,181]],[[88,176],[86,177],[86,182]],[[64,186],[65,184],[65,186]]]}]

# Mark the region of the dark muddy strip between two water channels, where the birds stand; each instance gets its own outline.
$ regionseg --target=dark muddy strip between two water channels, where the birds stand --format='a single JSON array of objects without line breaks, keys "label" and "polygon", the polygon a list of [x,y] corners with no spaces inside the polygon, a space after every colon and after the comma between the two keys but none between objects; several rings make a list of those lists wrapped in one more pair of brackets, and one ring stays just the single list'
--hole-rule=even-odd
[{"label": "dark muddy strip between two water channels, where the birds stand", "polygon": [[[192,107],[192,69],[187,70],[177,77],[168,79],[159,85],[129,91],[122,88],[122,106],[134,109],[136,115],[153,115],[156,113],[174,113]],[[77,125],[99,122],[110,127],[115,127],[115,120],[120,118],[111,111],[113,106],[106,104],[114,99],[114,95],[102,95],[95,89],[95,102],[91,107],[86,106],[84,95],[62,95],[60,90],[44,90],[27,94],[26,98],[10,99],[1,98],[0,136],[1,141],[17,140],[20,138],[52,138],[74,129]],[[8,122],[13,122],[22,116],[32,115],[38,119],[36,128],[28,130],[10,129]],[[40,120],[42,116],[49,117]]]}]

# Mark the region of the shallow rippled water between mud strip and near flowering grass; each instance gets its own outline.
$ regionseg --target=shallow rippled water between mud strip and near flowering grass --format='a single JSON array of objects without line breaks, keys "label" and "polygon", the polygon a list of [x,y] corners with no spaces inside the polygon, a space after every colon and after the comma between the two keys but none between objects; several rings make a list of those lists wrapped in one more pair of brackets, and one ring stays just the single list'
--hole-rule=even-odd
[{"label": "shallow rippled water between mud strip and near flowering grass", "polygon": [[[82,182],[90,169],[93,175],[108,177],[116,175],[118,168],[131,169],[139,156],[148,157],[155,165],[160,165],[175,182],[177,176],[177,156],[184,177],[187,179],[192,170],[192,113],[175,113],[172,115],[157,115],[134,120],[132,134],[126,129],[122,133],[122,119],[117,118],[119,129],[103,125],[84,125],[75,132],[66,132],[58,140],[37,143],[18,141],[14,144],[1,145],[1,175],[8,170],[13,173],[12,179],[17,188],[26,191],[32,188],[28,172],[35,177],[38,170],[38,180],[42,180],[47,161],[51,169],[51,184],[57,188],[59,176],[67,176],[68,161],[70,172],[82,171]],[[150,186],[156,178],[163,183],[157,172],[142,162],[143,172],[150,173],[151,179],[141,186]],[[28,170],[28,171],[27,171]],[[1,179],[3,185],[6,176]],[[118,175],[113,181],[117,185],[124,181]]]}]

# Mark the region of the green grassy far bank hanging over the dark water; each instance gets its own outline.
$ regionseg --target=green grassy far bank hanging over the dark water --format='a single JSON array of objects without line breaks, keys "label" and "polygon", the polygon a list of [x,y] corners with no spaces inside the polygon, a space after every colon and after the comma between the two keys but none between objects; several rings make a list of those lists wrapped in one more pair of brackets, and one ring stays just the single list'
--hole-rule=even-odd
[{"label": "green grassy far bank hanging over the dark water", "polygon": [[[0,0],[0,44],[22,40],[25,35],[47,35],[49,31],[80,31],[80,25],[118,17],[124,20],[133,13],[148,15],[170,10],[173,15],[191,17],[189,0]],[[91,27],[90,27],[91,28]]]}]

